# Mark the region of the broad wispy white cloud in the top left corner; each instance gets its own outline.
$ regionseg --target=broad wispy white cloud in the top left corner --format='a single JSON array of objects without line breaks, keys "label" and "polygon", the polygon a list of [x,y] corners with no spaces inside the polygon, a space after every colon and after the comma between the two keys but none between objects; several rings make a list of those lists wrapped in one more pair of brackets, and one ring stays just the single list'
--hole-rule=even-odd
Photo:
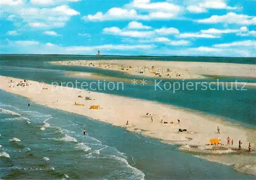
[{"label": "broad wispy white cloud in the top left corner", "polygon": [[[37,2],[42,3],[42,1]],[[47,4],[49,2],[45,3]],[[54,2],[57,3],[58,1],[54,0]],[[70,17],[80,14],[66,4],[51,8],[42,8],[41,6],[36,7],[32,5],[32,3],[20,1],[18,6],[14,6],[13,3],[2,4],[2,17],[6,17],[10,21],[15,21],[15,24],[19,21],[19,26],[23,27],[22,30],[27,30],[29,27],[44,29],[64,27],[66,22],[70,20]]]}]

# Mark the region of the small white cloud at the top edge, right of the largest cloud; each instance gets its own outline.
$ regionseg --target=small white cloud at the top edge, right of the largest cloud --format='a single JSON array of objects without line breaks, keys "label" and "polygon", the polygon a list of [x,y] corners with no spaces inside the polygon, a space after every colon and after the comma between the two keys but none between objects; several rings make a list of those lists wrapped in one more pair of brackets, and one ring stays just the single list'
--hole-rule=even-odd
[{"label": "small white cloud at the top edge, right of the largest cloud", "polygon": [[235,10],[238,9],[237,7],[230,7],[223,0],[206,0],[202,3],[198,3],[197,5],[189,5],[187,6],[187,10],[192,13],[203,13],[207,12],[207,9],[228,9],[228,10]]}]

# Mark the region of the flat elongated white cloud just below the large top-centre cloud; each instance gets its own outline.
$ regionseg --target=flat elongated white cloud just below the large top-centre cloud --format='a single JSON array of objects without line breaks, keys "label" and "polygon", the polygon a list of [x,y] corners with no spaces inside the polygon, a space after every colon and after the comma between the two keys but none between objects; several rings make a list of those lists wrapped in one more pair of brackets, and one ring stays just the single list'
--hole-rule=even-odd
[{"label": "flat elongated white cloud just below the large top-centre cloud", "polygon": [[130,31],[125,29],[121,30],[118,27],[104,28],[103,33],[125,37],[150,37],[154,35],[154,31]]}]

